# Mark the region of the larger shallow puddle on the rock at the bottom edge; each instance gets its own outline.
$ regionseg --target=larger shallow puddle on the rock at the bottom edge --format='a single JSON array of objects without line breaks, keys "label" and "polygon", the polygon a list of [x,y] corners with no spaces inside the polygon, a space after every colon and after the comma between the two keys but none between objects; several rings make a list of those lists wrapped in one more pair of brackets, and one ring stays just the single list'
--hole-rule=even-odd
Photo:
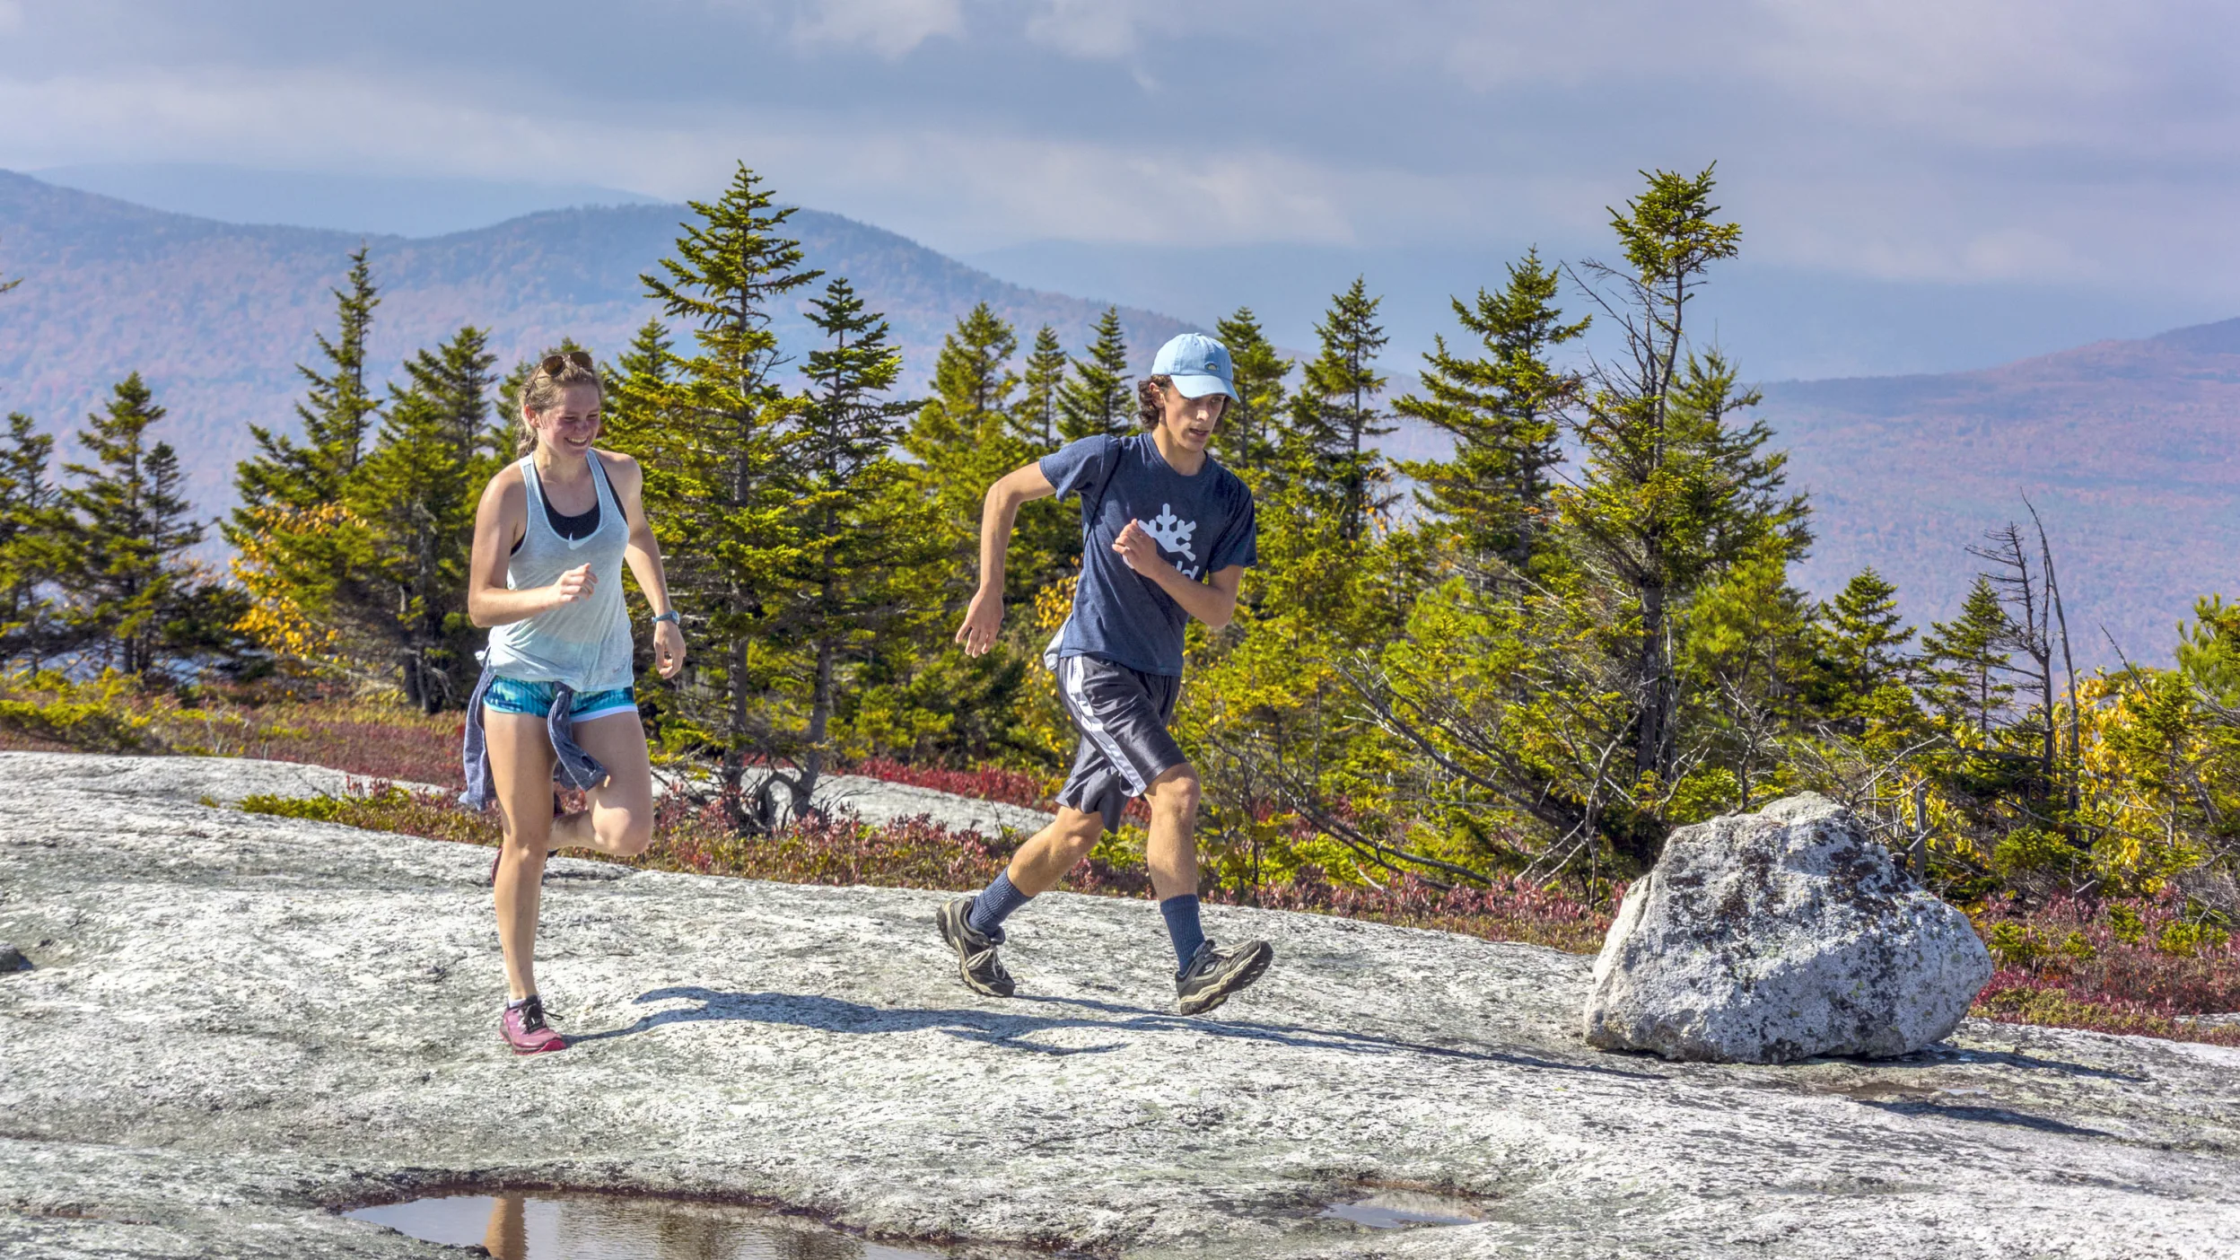
[{"label": "larger shallow puddle on the rock at the bottom edge", "polygon": [[343,1215],[497,1260],[941,1260],[800,1217],[623,1195],[446,1195]]}]

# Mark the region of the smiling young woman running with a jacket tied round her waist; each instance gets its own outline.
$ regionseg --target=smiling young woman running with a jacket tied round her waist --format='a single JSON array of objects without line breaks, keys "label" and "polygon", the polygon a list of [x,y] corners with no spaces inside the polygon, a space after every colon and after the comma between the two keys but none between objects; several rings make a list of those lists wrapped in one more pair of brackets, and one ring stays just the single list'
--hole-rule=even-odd
[{"label": "smiling young woman running with a jacket tied round her waist", "polygon": [[[500,1029],[515,1054],[567,1049],[538,1000],[544,856],[569,845],[632,856],[654,834],[623,560],[654,605],[661,677],[685,664],[638,498],[645,475],[629,455],[591,448],[600,399],[589,354],[538,363],[520,397],[522,457],[491,478],[475,509],[466,612],[493,630],[466,706],[466,803],[495,796],[504,818],[491,883],[511,991]],[[589,807],[556,816],[553,782],[585,789]]]}]

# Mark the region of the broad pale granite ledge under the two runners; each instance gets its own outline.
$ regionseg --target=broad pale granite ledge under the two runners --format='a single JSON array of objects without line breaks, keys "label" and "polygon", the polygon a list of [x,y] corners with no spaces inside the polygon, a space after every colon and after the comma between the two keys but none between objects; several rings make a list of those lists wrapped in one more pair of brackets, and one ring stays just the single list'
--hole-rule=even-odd
[{"label": "broad pale granite ledge under the two runners", "polygon": [[[520,1060],[486,854],[202,800],[320,771],[0,758],[0,1253],[457,1256],[336,1208],[430,1188],[788,1204],[1093,1256],[2231,1256],[2240,1051],[1964,1022],[1902,1060],[1581,1040],[1590,960],[1212,908],[1277,969],[1172,1013],[1149,906],[1015,919],[965,991],[941,892],[558,861]],[[307,787],[323,791],[325,787]],[[1369,1188],[1474,1224],[1319,1217]]]}]

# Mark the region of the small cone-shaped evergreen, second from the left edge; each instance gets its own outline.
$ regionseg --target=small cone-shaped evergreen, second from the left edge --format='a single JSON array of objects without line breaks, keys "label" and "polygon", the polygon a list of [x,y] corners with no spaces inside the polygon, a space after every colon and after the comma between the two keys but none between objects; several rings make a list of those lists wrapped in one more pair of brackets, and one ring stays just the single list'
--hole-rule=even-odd
[{"label": "small cone-shaped evergreen, second from the left edge", "polygon": [[211,626],[222,594],[188,563],[204,527],[181,493],[179,457],[148,442],[161,419],[139,372],[116,383],[105,413],[87,417],[78,446],[92,462],[65,464],[78,484],[63,491],[69,556],[56,574],[65,617],[92,659],[143,679],[222,630]]}]

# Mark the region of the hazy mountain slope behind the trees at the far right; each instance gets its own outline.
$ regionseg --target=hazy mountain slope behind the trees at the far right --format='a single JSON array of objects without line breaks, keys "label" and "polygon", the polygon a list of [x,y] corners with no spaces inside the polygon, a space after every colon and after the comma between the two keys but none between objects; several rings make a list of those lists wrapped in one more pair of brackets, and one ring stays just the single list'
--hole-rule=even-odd
[{"label": "hazy mountain slope behind the trees at the far right", "polygon": [[1976,572],[1962,547],[2027,522],[2029,495],[2081,661],[2115,664],[2110,634],[2166,661],[2197,594],[2240,596],[2240,321],[1765,395],[1812,491],[1814,590],[1875,565],[1915,617],[1949,617]]}]

